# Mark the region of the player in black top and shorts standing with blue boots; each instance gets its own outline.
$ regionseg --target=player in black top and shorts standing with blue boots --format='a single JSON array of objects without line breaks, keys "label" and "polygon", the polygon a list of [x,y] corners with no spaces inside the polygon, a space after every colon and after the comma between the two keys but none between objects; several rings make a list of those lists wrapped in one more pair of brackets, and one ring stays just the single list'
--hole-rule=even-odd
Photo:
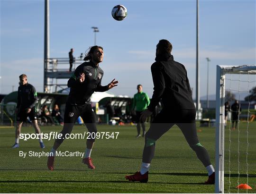
[{"label": "player in black top and shorts standing with blue boots", "polygon": [[[37,111],[35,105],[37,103],[37,91],[35,87],[27,83],[27,76],[22,74],[19,76],[18,87],[18,103],[17,103],[17,126],[15,132],[15,143],[12,148],[19,147],[19,134],[23,122],[27,121],[27,117],[32,121],[32,125],[37,134],[41,134],[40,128],[37,124]],[[41,135],[39,135],[39,143],[41,148],[45,148]]]}]

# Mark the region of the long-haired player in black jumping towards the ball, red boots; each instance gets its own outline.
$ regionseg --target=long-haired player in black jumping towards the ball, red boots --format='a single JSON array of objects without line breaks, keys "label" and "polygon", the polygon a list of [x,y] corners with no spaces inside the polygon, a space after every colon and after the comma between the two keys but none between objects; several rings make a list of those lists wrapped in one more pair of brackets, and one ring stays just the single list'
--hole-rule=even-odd
[{"label": "long-haired player in black jumping towards the ball, red boots", "polygon": [[[66,135],[70,134],[76,119],[81,116],[88,131],[97,133],[96,119],[94,111],[91,107],[91,94],[94,92],[105,92],[115,86],[118,81],[115,79],[106,86],[101,85],[103,77],[103,70],[99,67],[99,63],[103,60],[103,48],[100,46],[91,47],[90,51],[85,55],[84,62],[78,66],[73,76],[68,80],[68,87],[70,93],[66,102],[64,113],[64,127],[60,132],[62,138],[56,139],[51,150],[51,156],[48,157],[48,169],[54,169],[54,157],[57,148],[64,141]],[[95,141],[94,136],[86,141],[86,150],[82,162],[88,166],[89,169],[95,169],[91,162],[91,150]]]}]

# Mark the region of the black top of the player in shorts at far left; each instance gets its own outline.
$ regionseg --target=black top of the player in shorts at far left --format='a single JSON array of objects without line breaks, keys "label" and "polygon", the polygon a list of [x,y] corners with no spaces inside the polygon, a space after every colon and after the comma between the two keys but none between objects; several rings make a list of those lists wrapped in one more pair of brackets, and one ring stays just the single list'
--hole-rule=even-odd
[{"label": "black top of the player in shorts at far left", "polygon": [[18,87],[17,109],[32,109],[37,103],[37,91],[31,84],[20,85]]}]

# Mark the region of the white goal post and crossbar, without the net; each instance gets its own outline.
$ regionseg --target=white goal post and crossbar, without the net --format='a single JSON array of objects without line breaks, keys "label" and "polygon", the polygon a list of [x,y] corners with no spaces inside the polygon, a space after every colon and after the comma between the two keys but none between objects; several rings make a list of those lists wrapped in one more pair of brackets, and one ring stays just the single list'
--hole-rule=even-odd
[{"label": "white goal post and crossbar, without the net", "polygon": [[225,75],[256,74],[256,65],[217,66],[216,75],[216,149],[215,193],[224,193]]}]

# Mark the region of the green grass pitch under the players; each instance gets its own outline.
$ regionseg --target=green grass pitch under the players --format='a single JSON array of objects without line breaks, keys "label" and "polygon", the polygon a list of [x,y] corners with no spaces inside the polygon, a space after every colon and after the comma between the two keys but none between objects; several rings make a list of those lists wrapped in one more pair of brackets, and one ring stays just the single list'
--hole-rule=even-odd
[{"label": "green grass pitch under the players", "polygon": [[[146,127],[148,128],[148,126]],[[247,123],[240,124],[240,177],[247,183],[246,149]],[[60,132],[58,127],[41,127],[44,133]],[[215,166],[215,128],[198,127],[200,143],[209,151]],[[20,147],[12,149],[14,128],[0,128],[0,193],[214,193],[213,185],[202,185],[207,172],[186,143],[178,127],[170,129],[156,142],[155,158],[150,168],[148,183],[133,183],[125,175],[139,170],[144,139],[136,139],[135,126],[99,125],[99,132],[119,132],[118,139],[96,140],[91,157],[96,166],[89,170],[80,157],[56,157],[55,170],[49,171],[47,157],[19,157],[19,151],[42,151],[37,140],[20,140]],[[256,188],[256,122],[249,125],[248,185]],[[22,133],[33,133],[32,127],[23,127]],[[83,133],[83,126],[75,126],[73,133]],[[229,130],[225,144],[225,193],[229,189]],[[238,189],[238,131],[231,132],[230,193]],[[53,140],[44,141],[48,152]],[[65,140],[59,151],[83,152],[85,140]],[[239,190],[246,193],[246,190]]]}]

